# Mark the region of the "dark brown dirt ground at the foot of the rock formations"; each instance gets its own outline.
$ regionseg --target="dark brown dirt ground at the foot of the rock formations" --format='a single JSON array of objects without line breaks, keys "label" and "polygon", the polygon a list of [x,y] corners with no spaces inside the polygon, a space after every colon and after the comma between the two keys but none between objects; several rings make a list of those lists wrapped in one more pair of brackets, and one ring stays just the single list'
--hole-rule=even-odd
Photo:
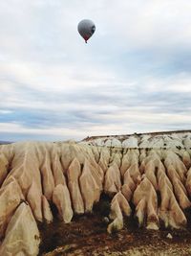
[{"label": "dark brown dirt ground at the foot of the rock formations", "polygon": [[138,228],[132,219],[125,220],[124,228],[110,235],[104,214],[97,209],[94,214],[74,217],[68,224],[57,219],[41,224],[39,255],[191,255],[190,224],[185,230],[151,231]]}]

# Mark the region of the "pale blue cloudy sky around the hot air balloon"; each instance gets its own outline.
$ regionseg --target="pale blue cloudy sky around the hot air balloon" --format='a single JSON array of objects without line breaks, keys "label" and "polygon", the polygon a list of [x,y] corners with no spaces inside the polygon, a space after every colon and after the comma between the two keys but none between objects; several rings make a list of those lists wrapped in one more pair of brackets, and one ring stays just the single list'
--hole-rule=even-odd
[{"label": "pale blue cloudy sky around the hot air balloon", "polygon": [[1,0],[0,140],[190,129],[190,13],[188,0]]}]

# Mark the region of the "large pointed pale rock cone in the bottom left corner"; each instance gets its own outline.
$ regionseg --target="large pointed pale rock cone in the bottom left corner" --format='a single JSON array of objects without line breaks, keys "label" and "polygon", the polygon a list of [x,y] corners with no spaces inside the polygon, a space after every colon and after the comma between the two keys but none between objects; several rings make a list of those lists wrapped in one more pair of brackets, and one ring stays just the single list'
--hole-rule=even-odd
[{"label": "large pointed pale rock cone in the bottom left corner", "polygon": [[21,203],[16,209],[6,230],[6,236],[0,247],[0,255],[38,254],[40,235],[29,205]]}]

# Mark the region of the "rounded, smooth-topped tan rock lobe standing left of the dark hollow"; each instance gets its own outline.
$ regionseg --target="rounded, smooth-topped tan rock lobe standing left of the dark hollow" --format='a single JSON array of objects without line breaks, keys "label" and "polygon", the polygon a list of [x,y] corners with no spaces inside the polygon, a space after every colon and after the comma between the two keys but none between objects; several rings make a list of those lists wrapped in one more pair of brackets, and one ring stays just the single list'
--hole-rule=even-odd
[{"label": "rounded, smooth-topped tan rock lobe standing left of the dark hollow", "polygon": [[66,185],[59,184],[54,188],[53,203],[57,207],[61,220],[69,223],[73,218],[73,209],[69,190]]}]

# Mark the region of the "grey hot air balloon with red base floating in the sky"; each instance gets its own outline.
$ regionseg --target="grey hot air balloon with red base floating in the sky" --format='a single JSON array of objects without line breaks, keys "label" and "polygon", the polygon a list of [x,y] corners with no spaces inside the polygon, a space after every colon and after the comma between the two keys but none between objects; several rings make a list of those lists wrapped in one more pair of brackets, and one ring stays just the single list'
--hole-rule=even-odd
[{"label": "grey hot air balloon with red base floating in the sky", "polygon": [[83,19],[77,26],[78,33],[84,38],[85,42],[95,33],[95,23],[90,19]]}]

